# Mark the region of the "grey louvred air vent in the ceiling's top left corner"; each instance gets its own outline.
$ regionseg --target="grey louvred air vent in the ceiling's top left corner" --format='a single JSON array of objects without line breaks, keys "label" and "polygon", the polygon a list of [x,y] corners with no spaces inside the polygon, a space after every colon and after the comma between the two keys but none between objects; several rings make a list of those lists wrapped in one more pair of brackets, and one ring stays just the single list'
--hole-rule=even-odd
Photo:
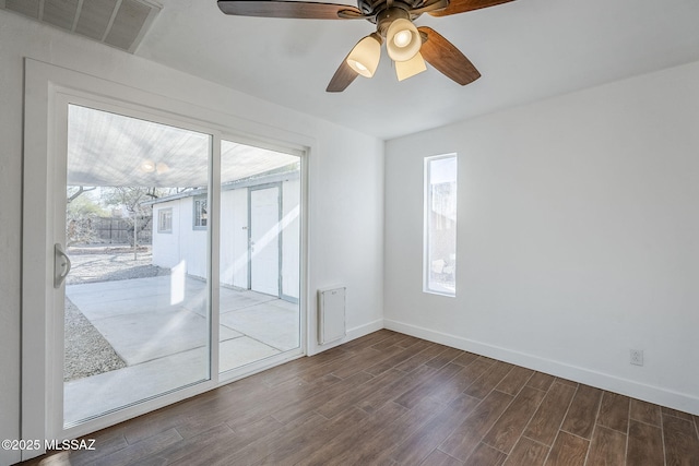
[{"label": "grey louvred air vent in the ceiling's top left corner", "polygon": [[0,8],[133,53],[163,7],[152,0],[0,0]]}]

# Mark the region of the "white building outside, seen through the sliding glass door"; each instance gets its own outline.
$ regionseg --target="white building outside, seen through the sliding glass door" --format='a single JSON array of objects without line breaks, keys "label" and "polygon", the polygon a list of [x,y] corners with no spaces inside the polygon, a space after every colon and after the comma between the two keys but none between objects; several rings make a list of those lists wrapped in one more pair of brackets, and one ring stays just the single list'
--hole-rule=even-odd
[{"label": "white building outside, seen through the sliding glass door", "polygon": [[[153,205],[153,264],[206,277],[208,193],[161,198]],[[222,184],[221,284],[298,302],[299,170]]]}]

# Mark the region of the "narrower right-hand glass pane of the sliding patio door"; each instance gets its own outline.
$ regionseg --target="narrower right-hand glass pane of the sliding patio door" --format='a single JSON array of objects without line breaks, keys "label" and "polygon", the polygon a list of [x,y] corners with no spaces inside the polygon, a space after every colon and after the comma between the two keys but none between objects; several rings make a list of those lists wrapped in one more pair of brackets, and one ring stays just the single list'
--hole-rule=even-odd
[{"label": "narrower right-hand glass pane of the sliding patio door", "polygon": [[222,373],[300,347],[300,160],[222,141]]}]

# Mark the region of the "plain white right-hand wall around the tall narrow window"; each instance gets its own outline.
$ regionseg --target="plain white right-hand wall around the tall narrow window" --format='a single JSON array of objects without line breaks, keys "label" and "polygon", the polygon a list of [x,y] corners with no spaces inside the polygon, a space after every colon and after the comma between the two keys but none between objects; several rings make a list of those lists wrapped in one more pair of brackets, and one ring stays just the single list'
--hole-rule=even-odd
[{"label": "plain white right-hand wall around the tall narrow window", "polygon": [[[420,291],[451,152],[457,298]],[[390,141],[386,172],[388,327],[699,414],[699,63]]]}]

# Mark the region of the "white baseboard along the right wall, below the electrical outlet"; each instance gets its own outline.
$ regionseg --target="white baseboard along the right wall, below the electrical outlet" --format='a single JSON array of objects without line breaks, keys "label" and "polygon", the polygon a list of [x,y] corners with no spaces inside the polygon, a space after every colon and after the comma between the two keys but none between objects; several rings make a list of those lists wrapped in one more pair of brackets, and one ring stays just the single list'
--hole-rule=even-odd
[{"label": "white baseboard along the right wall, below the electrical outlet", "polygon": [[686,393],[678,393],[660,386],[647,385],[612,374],[596,372],[590,369],[570,366],[561,361],[541,358],[525,353],[514,351],[499,346],[493,346],[457,335],[436,332],[429,328],[406,324],[389,319],[383,320],[384,328],[400,332],[417,338],[487,356],[505,362],[522,366],[552,375],[569,379],[587,385],[596,386],[609,392],[620,393],[644,402],[691,413],[699,416],[699,398]]}]

